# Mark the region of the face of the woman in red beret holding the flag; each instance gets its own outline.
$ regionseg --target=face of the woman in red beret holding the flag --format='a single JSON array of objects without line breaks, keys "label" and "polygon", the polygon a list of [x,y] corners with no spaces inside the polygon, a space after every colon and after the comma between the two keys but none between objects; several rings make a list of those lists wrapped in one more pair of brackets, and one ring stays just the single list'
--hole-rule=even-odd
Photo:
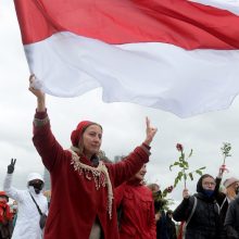
[{"label": "face of the woman in red beret holding the flag", "polygon": [[[90,125],[83,134],[83,153],[91,159],[100,150],[102,142],[102,128],[99,125]],[[79,142],[80,144],[80,142]]]}]

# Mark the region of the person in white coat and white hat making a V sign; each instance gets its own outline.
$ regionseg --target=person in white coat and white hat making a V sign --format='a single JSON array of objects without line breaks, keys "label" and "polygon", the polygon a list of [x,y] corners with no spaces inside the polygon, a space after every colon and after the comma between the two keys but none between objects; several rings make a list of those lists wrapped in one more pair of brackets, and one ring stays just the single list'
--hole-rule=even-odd
[{"label": "person in white coat and white hat making a V sign", "polygon": [[40,211],[47,214],[48,201],[42,194],[43,178],[38,173],[32,173],[27,177],[26,190],[18,190],[12,187],[15,162],[16,160],[11,160],[11,164],[8,166],[8,174],[3,184],[5,193],[10,198],[17,201],[17,218],[12,239],[41,239],[43,231],[39,225],[40,214],[34,200],[40,207]]}]

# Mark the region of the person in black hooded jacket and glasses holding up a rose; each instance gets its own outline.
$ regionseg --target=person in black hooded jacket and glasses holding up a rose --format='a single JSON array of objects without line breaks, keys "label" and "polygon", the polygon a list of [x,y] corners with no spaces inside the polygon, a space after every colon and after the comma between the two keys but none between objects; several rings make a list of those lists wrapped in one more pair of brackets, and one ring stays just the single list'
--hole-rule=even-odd
[{"label": "person in black hooded jacket and glasses holding up a rose", "polygon": [[176,222],[187,222],[190,217],[190,221],[186,223],[186,239],[219,238],[222,223],[216,194],[216,181],[209,174],[202,175],[198,180],[194,196],[189,196],[188,189],[184,189],[184,200],[174,211],[173,218]]}]

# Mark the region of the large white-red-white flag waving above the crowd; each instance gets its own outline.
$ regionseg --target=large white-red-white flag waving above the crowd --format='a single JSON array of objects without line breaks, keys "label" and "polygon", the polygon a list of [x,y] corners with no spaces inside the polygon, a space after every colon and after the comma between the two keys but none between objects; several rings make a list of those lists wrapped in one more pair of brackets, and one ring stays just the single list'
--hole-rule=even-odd
[{"label": "large white-red-white flag waving above the crowd", "polygon": [[134,102],[187,117],[239,92],[237,0],[15,0],[42,90]]}]

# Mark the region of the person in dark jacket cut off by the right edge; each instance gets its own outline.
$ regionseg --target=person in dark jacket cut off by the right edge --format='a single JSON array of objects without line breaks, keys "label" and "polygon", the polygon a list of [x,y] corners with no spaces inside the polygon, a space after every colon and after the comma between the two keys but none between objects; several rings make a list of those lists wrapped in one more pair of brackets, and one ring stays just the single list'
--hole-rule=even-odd
[{"label": "person in dark jacket cut off by the right edge", "polygon": [[226,218],[225,230],[227,239],[239,239],[239,185],[235,188],[236,198],[229,203]]}]

